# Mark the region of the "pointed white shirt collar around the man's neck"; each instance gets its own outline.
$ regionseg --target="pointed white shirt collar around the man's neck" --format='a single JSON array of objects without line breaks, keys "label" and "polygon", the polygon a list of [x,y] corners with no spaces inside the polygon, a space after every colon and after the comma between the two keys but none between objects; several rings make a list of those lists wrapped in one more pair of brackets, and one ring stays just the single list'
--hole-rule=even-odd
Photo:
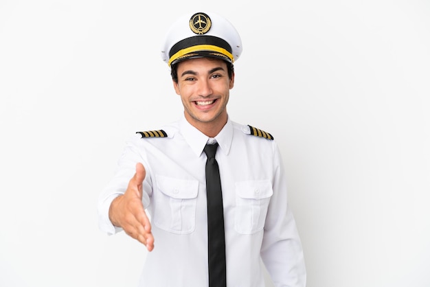
[{"label": "pointed white shirt collar around the man's neck", "polygon": [[[201,133],[200,130],[194,128],[194,126],[192,126],[187,121],[187,119],[185,119],[185,115],[183,115],[179,120],[179,130],[196,156],[200,157],[201,153],[203,152],[203,148],[205,148],[205,145],[210,137],[207,137],[207,135]],[[218,142],[220,150],[222,150],[225,154],[228,154],[231,147],[231,141],[233,139],[233,124],[228,117],[227,123],[218,133],[218,135],[214,137],[214,139],[216,139],[216,142]]]}]

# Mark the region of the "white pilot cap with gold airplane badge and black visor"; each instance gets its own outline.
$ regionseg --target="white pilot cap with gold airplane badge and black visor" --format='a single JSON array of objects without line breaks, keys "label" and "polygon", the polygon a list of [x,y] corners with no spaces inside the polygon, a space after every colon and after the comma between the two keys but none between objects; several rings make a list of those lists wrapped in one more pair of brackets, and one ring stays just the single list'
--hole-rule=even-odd
[{"label": "white pilot cap with gold airplane badge and black visor", "polygon": [[181,16],[166,34],[161,58],[169,67],[181,60],[212,57],[233,63],[242,53],[242,41],[231,23],[213,12]]}]

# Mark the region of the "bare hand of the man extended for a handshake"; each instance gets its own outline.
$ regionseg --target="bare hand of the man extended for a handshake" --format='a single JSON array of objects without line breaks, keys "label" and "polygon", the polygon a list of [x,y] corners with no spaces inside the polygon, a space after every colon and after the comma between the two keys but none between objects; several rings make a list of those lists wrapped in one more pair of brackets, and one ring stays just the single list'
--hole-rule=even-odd
[{"label": "bare hand of the man extended for a handshake", "polygon": [[142,183],[145,175],[144,165],[137,163],[136,173],[128,182],[126,192],[112,201],[109,218],[113,225],[122,227],[128,236],[142,242],[148,251],[152,251],[154,236],[152,236],[150,221],[142,203]]}]

